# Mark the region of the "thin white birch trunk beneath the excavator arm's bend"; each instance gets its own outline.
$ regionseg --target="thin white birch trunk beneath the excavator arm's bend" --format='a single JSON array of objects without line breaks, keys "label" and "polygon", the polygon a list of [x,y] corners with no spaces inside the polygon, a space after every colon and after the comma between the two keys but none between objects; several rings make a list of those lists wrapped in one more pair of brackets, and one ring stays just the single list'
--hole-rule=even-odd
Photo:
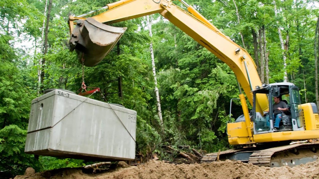
[{"label": "thin white birch trunk beneath the excavator arm's bend", "polygon": [[[150,31],[150,37],[152,37],[152,25],[150,22],[149,16],[146,16],[147,18],[147,26]],[[155,71],[155,60],[154,60],[154,53],[153,53],[153,42],[152,39],[150,41],[150,52],[151,52],[151,58],[152,58],[152,69],[153,69],[153,77],[154,77],[154,83],[155,83],[155,94],[156,94],[156,102],[157,102],[157,111],[159,116],[160,125],[163,127],[163,118],[162,118],[162,110],[160,107],[160,100],[159,100],[159,89],[157,85],[157,78],[156,78],[156,71]]]}]

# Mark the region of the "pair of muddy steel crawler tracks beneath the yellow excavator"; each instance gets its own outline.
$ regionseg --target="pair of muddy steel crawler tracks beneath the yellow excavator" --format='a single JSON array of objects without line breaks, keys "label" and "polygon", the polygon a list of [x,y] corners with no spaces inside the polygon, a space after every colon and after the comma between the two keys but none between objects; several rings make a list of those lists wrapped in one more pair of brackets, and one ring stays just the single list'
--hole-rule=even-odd
[{"label": "pair of muddy steel crawler tracks beneath the yellow excavator", "polygon": [[[272,147],[263,150],[251,150],[252,148],[230,149],[220,153],[210,153],[203,156],[201,163],[210,163],[230,159],[236,161],[235,155],[246,155],[240,157],[240,161],[248,162],[257,166],[265,167],[293,167],[302,163],[315,161],[319,158],[319,143],[292,144],[280,147]],[[249,158],[249,159],[248,159]]]}]

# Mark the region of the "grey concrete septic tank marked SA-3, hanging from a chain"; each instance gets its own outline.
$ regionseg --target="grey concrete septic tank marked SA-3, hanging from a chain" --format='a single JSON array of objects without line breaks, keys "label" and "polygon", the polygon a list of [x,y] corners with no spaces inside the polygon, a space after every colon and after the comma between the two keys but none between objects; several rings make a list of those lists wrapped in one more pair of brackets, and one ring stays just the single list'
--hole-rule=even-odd
[{"label": "grey concrete septic tank marked SA-3, hanging from a chain", "polygon": [[134,160],[135,137],[136,111],[56,89],[32,101],[25,152]]}]

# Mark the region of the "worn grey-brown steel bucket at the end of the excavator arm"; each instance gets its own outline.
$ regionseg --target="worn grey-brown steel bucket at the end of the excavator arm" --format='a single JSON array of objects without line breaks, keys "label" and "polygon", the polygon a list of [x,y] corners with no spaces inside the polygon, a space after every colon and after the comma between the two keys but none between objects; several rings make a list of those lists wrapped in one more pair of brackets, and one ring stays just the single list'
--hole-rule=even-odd
[{"label": "worn grey-brown steel bucket at the end of the excavator arm", "polygon": [[78,20],[71,34],[70,51],[78,53],[78,59],[87,67],[93,67],[112,50],[127,27],[113,27],[93,18]]}]

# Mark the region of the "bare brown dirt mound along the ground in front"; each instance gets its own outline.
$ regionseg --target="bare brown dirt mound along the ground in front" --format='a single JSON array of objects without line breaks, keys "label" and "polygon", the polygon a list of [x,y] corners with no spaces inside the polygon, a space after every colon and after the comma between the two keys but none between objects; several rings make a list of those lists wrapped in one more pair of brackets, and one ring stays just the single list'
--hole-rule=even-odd
[{"label": "bare brown dirt mound along the ground in front", "polygon": [[293,168],[258,167],[240,161],[216,161],[204,164],[175,165],[150,161],[143,165],[88,173],[81,168],[61,168],[41,173],[18,175],[14,179],[319,179],[319,160]]}]

